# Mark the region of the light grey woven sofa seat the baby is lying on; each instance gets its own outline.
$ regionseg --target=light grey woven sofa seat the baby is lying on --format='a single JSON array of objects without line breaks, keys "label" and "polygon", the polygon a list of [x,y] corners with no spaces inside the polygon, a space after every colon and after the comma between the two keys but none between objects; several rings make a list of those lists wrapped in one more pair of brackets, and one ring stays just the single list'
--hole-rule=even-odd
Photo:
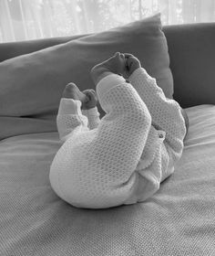
[{"label": "light grey woven sofa seat the baby is lying on", "polygon": [[11,131],[0,142],[0,255],[215,255],[215,106],[186,112],[174,174],[147,201],[109,209],[74,208],[56,196],[48,179],[56,132],[43,123],[36,132],[33,119],[25,133]]}]

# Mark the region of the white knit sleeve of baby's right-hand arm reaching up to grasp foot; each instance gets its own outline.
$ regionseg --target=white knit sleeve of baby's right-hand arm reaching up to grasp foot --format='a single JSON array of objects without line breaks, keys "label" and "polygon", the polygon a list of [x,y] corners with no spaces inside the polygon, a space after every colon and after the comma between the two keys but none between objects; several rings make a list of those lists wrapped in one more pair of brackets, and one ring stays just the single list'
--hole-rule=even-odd
[{"label": "white knit sleeve of baby's right-hand arm reaching up to grasp foot", "polygon": [[135,69],[129,80],[148,106],[154,127],[166,133],[165,142],[170,146],[167,149],[170,149],[169,154],[172,155],[172,159],[174,161],[179,159],[186,134],[179,103],[167,99],[156,80],[151,78],[145,69]]}]

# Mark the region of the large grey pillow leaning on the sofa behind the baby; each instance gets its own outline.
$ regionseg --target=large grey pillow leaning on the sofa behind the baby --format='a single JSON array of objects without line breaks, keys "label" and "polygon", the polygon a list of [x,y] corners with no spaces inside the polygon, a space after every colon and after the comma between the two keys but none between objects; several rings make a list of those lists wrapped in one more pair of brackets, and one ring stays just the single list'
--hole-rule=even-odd
[{"label": "large grey pillow leaning on the sofa behind the baby", "polygon": [[[55,112],[66,84],[95,89],[90,69],[116,51],[132,53],[168,98],[173,80],[160,14],[0,63],[0,115]],[[98,106],[101,116],[104,112]],[[53,117],[54,118],[54,117]]]}]

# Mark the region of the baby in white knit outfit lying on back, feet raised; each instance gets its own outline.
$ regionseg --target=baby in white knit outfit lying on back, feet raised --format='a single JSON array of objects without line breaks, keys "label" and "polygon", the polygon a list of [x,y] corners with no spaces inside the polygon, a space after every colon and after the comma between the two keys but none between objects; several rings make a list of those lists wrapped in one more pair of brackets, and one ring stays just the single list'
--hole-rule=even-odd
[{"label": "baby in white knit outfit lying on back, feet raised", "polygon": [[50,167],[51,186],[77,208],[142,202],[182,155],[186,125],[179,103],[165,97],[131,54],[117,52],[91,77],[97,93],[74,83],[63,92],[56,123],[64,144]]}]

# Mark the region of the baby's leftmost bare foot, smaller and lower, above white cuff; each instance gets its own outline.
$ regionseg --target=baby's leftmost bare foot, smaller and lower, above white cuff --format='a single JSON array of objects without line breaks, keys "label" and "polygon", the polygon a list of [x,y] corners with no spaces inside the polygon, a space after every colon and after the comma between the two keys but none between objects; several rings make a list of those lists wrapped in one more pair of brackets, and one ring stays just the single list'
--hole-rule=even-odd
[{"label": "baby's leftmost bare foot, smaller and lower, above white cuff", "polygon": [[73,82],[69,82],[63,91],[63,98],[73,99],[76,101],[81,101],[82,103],[85,102],[87,99],[87,95],[80,91],[77,85]]}]

